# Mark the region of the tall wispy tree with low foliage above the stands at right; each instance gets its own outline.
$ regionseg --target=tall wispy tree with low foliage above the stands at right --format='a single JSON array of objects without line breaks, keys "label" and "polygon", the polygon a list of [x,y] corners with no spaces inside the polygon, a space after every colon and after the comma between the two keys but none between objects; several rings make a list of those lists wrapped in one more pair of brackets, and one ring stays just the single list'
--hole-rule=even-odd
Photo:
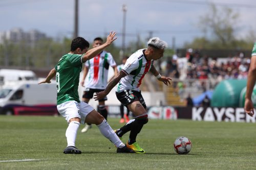
[{"label": "tall wispy tree with low foliage above the stands at right", "polygon": [[[200,17],[198,27],[204,35],[184,47],[197,49],[236,49],[250,50],[256,40],[254,30],[250,30],[245,37],[237,37],[239,13],[230,8],[217,8],[214,4],[209,6],[209,12]],[[206,36],[209,35],[210,36]]]}]

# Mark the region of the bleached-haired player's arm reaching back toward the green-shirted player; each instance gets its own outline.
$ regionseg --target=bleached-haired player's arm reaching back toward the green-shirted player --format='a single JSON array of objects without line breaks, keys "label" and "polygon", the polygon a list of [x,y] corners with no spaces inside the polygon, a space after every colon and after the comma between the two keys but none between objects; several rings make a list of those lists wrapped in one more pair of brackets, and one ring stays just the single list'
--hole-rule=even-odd
[{"label": "bleached-haired player's arm reaching back toward the green-shirted player", "polygon": [[103,99],[106,95],[110,93],[113,87],[117,85],[117,83],[121,80],[121,78],[125,77],[126,74],[121,70],[118,72],[118,74],[109,82],[109,84],[106,86],[106,89],[104,91],[98,92],[94,95],[94,100],[98,101],[100,99]]}]

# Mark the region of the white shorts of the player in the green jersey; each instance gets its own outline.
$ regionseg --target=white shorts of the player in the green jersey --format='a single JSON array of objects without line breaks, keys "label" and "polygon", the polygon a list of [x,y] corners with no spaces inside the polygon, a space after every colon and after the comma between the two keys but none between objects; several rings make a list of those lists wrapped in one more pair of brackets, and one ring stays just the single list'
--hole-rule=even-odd
[{"label": "white shorts of the player in the green jersey", "polygon": [[71,118],[79,117],[81,119],[81,124],[84,124],[86,116],[94,110],[94,108],[87,103],[78,103],[76,101],[68,101],[57,105],[57,109],[59,114],[65,117],[68,123]]}]

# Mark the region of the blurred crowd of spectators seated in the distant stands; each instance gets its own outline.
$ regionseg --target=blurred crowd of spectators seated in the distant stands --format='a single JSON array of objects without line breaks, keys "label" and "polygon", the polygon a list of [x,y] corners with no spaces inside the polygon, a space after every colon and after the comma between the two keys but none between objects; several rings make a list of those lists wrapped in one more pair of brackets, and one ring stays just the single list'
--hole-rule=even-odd
[{"label": "blurred crowd of spectators seated in the distant stands", "polygon": [[182,63],[181,66],[176,55],[168,59],[165,76],[177,79],[181,76],[184,79],[208,79],[216,82],[225,79],[246,79],[250,65],[250,58],[246,58],[243,53],[226,58],[209,58],[189,49],[185,57],[186,63]]}]

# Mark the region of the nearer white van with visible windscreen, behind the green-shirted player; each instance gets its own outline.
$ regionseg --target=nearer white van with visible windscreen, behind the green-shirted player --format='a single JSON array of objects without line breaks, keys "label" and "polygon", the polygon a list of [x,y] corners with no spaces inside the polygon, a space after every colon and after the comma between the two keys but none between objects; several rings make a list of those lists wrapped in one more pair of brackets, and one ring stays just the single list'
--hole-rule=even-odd
[{"label": "nearer white van with visible windscreen, behind the green-shirted player", "polygon": [[39,106],[46,109],[47,106],[56,105],[56,82],[38,85],[38,81],[12,81],[6,83],[0,89],[0,114],[15,114],[16,107],[23,107],[24,110],[27,107],[27,111],[34,110],[34,112],[36,112],[36,109],[39,109],[39,112]]}]

